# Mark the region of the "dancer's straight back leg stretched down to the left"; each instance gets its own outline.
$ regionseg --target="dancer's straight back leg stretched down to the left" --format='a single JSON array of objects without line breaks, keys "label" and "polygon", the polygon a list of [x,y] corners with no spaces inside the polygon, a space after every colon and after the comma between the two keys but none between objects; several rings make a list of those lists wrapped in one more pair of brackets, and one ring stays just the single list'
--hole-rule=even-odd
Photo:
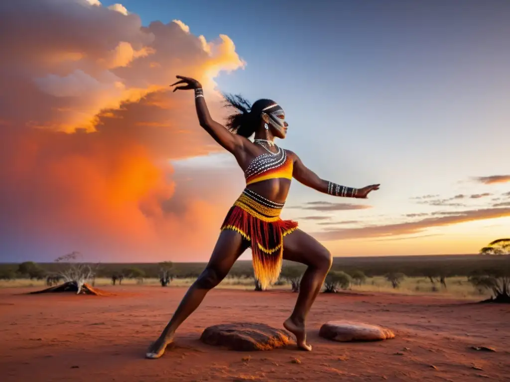
[{"label": "dancer's straight back leg stretched down to the left", "polygon": [[163,355],[166,346],[173,341],[177,328],[198,308],[207,292],[225,278],[247,245],[248,243],[238,232],[225,230],[220,233],[206,269],[188,289],[160,337],[149,346],[146,353],[147,358],[160,358]]}]

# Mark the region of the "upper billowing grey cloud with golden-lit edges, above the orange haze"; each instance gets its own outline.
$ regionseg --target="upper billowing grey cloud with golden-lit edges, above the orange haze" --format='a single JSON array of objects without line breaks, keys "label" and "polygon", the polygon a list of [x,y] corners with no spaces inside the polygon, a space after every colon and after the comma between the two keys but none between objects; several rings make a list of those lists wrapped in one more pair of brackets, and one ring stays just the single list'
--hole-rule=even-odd
[{"label": "upper billowing grey cloud with golden-lit edges, above the orange haze", "polygon": [[10,89],[4,118],[10,120],[93,130],[101,110],[167,90],[176,74],[195,76],[211,90],[220,71],[244,65],[230,38],[220,35],[206,51],[203,38],[183,30],[181,21],[145,28],[136,14],[119,12],[120,5],[112,10],[85,0],[23,4],[31,12],[0,5],[0,31],[7,36],[0,48],[9,52],[0,64],[9,73],[3,78]]}]

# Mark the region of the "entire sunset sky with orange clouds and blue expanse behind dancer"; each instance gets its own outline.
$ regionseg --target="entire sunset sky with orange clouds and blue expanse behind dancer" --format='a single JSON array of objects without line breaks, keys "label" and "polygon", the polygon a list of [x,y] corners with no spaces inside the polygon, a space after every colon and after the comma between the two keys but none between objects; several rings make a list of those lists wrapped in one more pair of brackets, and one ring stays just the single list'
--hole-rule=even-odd
[{"label": "entire sunset sky with orange clouds and blue expanse behind dancer", "polygon": [[[205,86],[283,106],[319,176],[283,212],[334,256],[476,253],[510,236],[510,2],[0,2],[0,262],[207,261],[244,187]],[[250,257],[247,252],[243,258]]]}]

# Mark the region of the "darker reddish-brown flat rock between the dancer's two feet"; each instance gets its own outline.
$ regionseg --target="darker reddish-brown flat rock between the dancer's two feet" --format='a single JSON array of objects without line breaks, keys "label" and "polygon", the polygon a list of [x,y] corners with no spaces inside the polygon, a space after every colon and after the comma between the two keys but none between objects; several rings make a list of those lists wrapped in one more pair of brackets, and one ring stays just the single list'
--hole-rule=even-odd
[{"label": "darker reddish-brown flat rock between the dancer's two feet", "polygon": [[234,322],[209,326],[203,331],[200,340],[230,350],[252,351],[287,346],[291,336],[283,329],[271,328],[263,323]]}]

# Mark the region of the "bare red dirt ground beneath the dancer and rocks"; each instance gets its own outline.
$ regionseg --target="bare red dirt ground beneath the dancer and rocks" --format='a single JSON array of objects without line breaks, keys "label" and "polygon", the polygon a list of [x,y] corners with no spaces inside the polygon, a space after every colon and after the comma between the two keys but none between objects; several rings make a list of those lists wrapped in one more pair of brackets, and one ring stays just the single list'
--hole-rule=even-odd
[{"label": "bare red dirt ground beneath the dancer and rocks", "polygon": [[[30,289],[32,291],[34,289]],[[39,381],[510,381],[510,306],[435,297],[321,294],[309,317],[312,352],[235,352],[202,344],[209,325],[258,321],[281,328],[296,294],[213,290],[159,360],[144,359],[184,288],[109,287],[116,296],[0,290],[3,382]],[[381,324],[396,338],[337,343],[330,320]],[[472,350],[490,346],[496,352]],[[243,358],[251,358],[243,361]],[[300,363],[293,362],[298,358]]]}]

